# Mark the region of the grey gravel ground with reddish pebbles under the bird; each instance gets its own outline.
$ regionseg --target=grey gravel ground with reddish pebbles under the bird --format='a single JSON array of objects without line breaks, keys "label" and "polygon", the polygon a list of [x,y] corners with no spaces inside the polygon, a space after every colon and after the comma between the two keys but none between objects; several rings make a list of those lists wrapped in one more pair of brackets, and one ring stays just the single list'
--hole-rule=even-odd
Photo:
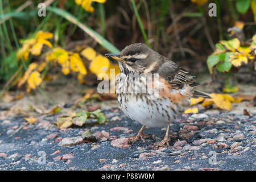
[{"label": "grey gravel ground with reddish pebbles under the bird", "polygon": [[[159,148],[154,143],[165,129],[146,128],[151,137],[131,143],[128,137],[141,125],[113,102],[101,107],[109,119],[102,125],[90,119],[59,130],[53,123],[57,115],[40,117],[34,125],[10,117],[0,120],[0,170],[255,170],[252,108],[250,115],[217,109],[183,114],[171,124],[170,147]],[[81,137],[84,131],[89,135]]]}]

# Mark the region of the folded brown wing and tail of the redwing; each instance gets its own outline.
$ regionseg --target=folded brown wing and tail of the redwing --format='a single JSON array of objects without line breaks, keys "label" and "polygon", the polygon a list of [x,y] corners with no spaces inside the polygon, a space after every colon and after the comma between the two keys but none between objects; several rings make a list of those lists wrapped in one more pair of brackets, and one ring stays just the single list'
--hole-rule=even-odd
[{"label": "folded brown wing and tail of the redwing", "polygon": [[[192,88],[200,85],[193,79],[193,76],[189,75],[189,72],[185,71],[185,69],[179,67],[179,65],[171,60],[163,63],[156,72],[171,85],[172,89],[182,89],[184,85],[189,85]],[[196,97],[210,98],[209,94],[194,89],[192,94]]]}]

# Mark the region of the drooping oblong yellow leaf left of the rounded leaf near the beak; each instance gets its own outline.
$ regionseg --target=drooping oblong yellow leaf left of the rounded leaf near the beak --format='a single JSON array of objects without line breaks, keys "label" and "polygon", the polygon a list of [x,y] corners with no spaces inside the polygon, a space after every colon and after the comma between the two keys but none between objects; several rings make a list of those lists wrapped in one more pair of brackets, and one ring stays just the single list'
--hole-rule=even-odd
[{"label": "drooping oblong yellow leaf left of the rounded leaf near the beak", "polygon": [[73,53],[70,56],[70,68],[74,72],[79,72],[81,75],[86,75],[87,71],[84,67],[84,63],[82,63],[81,57],[78,53]]}]

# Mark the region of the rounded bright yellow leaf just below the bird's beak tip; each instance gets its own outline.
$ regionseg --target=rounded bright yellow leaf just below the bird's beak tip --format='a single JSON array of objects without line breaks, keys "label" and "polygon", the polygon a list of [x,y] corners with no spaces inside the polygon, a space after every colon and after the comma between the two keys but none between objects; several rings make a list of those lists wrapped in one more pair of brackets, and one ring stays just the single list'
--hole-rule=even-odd
[{"label": "rounded bright yellow leaf just below the bird's beak tip", "polygon": [[109,59],[98,55],[91,63],[90,63],[90,71],[95,75],[100,75],[100,73],[106,73],[109,69],[110,63]]}]

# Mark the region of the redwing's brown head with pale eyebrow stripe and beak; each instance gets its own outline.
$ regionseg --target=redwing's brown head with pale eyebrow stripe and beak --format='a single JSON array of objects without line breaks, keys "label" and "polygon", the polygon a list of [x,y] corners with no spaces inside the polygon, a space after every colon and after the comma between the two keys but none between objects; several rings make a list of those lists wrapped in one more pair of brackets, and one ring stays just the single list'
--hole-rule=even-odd
[{"label": "redwing's brown head with pale eyebrow stripe and beak", "polygon": [[107,53],[106,57],[117,60],[121,73],[152,73],[159,65],[161,55],[145,44],[126,46],[119,54]]}]

